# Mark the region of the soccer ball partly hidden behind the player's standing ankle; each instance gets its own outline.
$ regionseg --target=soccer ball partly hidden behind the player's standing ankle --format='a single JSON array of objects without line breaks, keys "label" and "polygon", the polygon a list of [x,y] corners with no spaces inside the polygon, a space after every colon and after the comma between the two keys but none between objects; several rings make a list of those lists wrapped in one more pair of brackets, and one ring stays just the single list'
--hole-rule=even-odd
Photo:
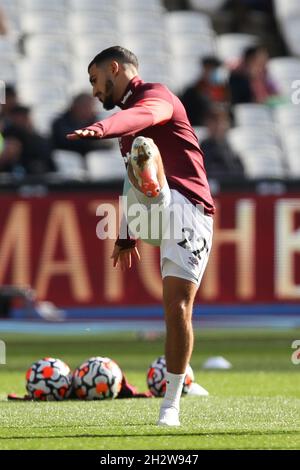
[{"label": "soccer ball partly hidden behind the player's standing ankle", "polygon": [[[160,356],[154,362],[152,362],[147,372],[147,385],[152,395],[156,397],[163,397],[166,393],[166,372],[167,366],[165,356]],[[188,393],[188,390],[194,380],[194,372],[191,366],[188,365],[182,387],[183,395]]]}]

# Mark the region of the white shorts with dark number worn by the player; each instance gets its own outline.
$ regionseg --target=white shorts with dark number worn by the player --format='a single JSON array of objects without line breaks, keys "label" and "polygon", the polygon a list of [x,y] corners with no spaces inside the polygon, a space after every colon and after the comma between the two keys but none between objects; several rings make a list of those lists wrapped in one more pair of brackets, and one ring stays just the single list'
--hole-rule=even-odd
[{"label": "white shorts with dark number worn by the player", "polygon": [[175,276],[199,286],[212,246],[213,218],[167,183],[155,199],[128,185],[128,177],[126,187],[129,232],[160,247],[162,278]]}]

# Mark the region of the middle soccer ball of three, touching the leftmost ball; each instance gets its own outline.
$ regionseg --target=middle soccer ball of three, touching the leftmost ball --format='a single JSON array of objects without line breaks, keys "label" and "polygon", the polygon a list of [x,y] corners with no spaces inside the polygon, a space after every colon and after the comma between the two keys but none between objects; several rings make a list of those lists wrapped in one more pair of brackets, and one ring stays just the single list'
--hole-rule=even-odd
[{"label": "middle soccer ball of three, touching the leftmost ball", "polygon": [[73,387],[83,400],[116,398],[122,377],[120,367],[109,357],[91,357],[74,371]]}]

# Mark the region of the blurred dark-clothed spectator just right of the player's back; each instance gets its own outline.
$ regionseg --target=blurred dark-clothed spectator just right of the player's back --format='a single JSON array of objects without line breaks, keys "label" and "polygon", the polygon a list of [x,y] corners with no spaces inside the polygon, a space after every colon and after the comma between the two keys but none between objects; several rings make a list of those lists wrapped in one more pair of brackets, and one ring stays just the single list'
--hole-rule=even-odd
[{"label": "blurred dark-clothed spectator just right of the player's back", "polygon": [[209,136],[200,142],[208,178],[244,177],[243,165],[226,138],[230,124],[227,108],[223,105],[214,105],[206,120]]}]

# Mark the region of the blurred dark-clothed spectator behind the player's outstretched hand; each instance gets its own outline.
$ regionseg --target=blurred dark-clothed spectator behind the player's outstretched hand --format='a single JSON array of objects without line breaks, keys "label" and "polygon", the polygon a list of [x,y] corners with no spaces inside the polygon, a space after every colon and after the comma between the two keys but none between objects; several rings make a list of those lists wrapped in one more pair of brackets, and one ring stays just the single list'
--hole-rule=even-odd
[{"label": "blurred dark-clothed spectator behind the player's outstretched hand", "polygon": [[61,116],[56,118],[52,124],[52,146],[54,149],[71,150],[78,152],[82,156],[86,153],[107,149],[111,147],[110,142],[102,140],[76,140],[66,139],[66,134],[70,134],[74,129],[87,127],[91,122],[98,119],[95,112],[95,100],[86,93],[77,95],[70,108]]}]

